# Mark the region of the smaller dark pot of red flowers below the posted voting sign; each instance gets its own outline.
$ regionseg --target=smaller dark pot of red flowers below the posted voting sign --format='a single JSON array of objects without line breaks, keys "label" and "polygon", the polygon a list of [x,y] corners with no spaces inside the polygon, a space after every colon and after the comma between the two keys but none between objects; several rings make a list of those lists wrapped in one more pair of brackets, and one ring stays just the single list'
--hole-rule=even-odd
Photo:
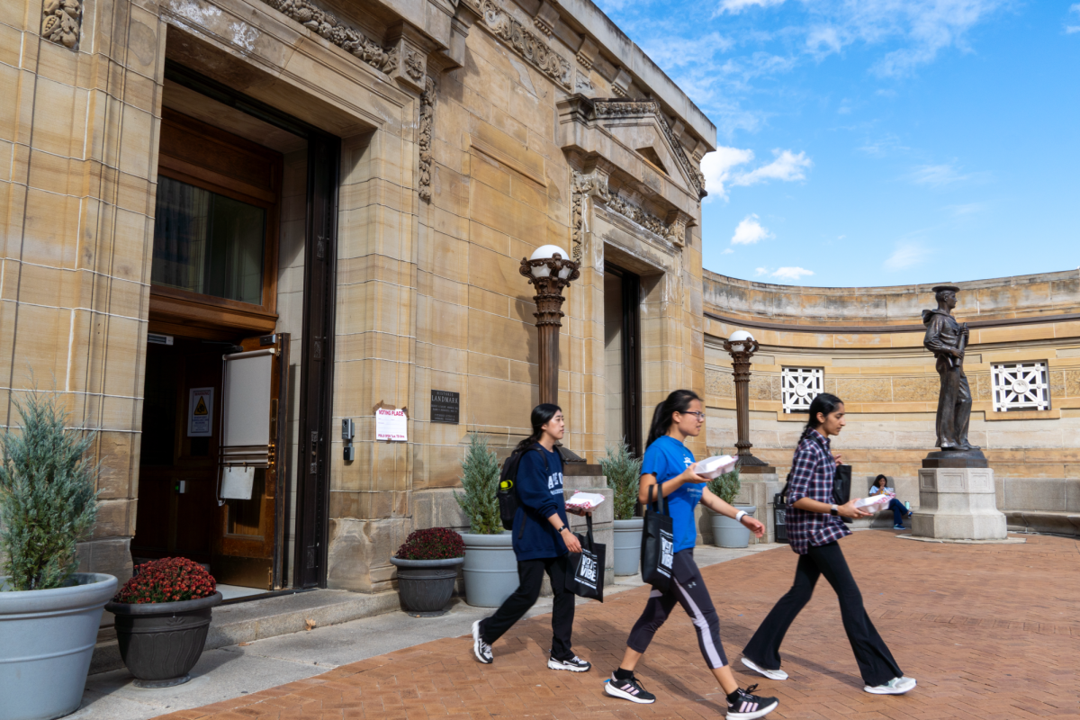
[{"label": "smaller dark pot of red flowers below the posted voting sign", "polygon": [[464,555],[464,542],[454,530],[429,528],[411,532],[397,555],[390,558],[397,567],[397,594],[405,612],[414,617],[444,614]]}]

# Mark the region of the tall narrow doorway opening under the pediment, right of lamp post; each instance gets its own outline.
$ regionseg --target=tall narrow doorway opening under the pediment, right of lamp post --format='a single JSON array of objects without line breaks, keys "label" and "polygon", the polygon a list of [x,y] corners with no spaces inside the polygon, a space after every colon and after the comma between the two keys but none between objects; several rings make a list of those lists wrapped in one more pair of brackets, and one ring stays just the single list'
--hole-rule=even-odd
[{"label": "tall narrow doorway opening under the pediment, right of lamp post", "polygon": [[606,443],[642,457],[640,279],[604,263],[604,392]]}]

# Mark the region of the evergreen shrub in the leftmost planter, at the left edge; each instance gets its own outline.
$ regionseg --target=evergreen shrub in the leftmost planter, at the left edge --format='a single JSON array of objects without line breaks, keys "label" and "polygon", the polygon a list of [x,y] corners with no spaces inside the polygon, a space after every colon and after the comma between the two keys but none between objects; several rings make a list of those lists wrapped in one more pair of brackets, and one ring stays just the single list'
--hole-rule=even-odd
[{"label": "evergreen shrub in the leftmost planter, at the left edge", "polygon": [[0,434],[3,574],[13,590],[63,587],[79,566],[76,543],[97,519],[94,434],[65,430],[54,394],[33,391],[13,404],[22,432]]}]

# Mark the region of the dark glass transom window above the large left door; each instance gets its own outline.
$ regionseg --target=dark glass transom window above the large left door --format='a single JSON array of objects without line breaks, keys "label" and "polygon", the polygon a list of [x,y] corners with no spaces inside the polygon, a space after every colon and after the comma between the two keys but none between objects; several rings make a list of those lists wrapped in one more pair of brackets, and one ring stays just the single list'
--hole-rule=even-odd
[{"label": "dark glass transom window above the large left door", "polygon": [[159,177],[151,281],[260,305],[266,223],[262,207]]}]

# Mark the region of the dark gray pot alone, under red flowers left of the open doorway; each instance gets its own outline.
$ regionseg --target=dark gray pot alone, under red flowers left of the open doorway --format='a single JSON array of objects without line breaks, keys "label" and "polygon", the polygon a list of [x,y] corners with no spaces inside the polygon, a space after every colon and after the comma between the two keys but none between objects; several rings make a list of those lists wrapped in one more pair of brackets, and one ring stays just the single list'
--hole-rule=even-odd
[{"label": "dark gray pot alone, under red flowers left of the open doorway", "polygon": [[191,679],[188,673],[202,655],[212,608],[221,594],[178,602],[110,602],[117,616],[120,657],[138,688],[172,688]]}]

